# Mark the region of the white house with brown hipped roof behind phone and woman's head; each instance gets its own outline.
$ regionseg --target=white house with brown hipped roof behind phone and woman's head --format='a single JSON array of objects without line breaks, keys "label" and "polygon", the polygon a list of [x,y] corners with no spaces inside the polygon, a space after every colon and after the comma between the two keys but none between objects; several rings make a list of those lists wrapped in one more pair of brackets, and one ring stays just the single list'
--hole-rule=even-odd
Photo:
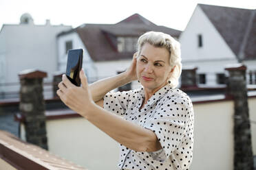
[{"label": "white house with brown hipped roof behind phone and woman's head", "polygon": [[116,24],[83,24],[58,34],[58,69],[65,72],[68,49],[84,49],[83,68],[89,82],[125,71],[136,52],[138,37],[160,31],[178,38],[180,31],[158,26],[139,14]]}]

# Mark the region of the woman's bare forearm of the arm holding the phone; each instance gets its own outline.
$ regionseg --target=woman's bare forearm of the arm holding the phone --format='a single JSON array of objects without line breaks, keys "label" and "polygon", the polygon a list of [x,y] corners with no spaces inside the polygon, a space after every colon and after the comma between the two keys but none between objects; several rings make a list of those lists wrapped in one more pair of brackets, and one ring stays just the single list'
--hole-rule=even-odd
[{"label": "woman's bare forearm of the arm holding the phone", "polygon": [[81,114],[89,122],[93,123],[100,130],[114,138],[118,143],[133,149],[134,151],[157,151],[161,148],[156,134],[140,125],[122,119],[115,114],[92,106]]}]

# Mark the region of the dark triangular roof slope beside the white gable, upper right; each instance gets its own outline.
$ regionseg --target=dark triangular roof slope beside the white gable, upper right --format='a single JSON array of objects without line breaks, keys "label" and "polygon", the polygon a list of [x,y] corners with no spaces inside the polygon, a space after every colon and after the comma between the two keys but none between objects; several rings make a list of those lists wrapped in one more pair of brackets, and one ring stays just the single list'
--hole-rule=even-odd
[{"label": "dark triangular roof slope beside the white gable, upper right", "polygon": [[[206,17],[209,19],[209,21],[213,24],[215,29],[217,29],[217,32],[220,33],[220,36],[225,40],[226,45],[230,47],[231,51],[233,51],[235,57],[237,60],[239,60],[239,51],[241,49],[242,43],[244,42],[244,35],[247,32],[248,29],[248,23],[251,19],[251,14],[254,10],[249,9],[243,9],[243,8],[231,8],[231,7],[224,7],[224,6],[217,6],[217,5],[198,5],[199,8],[206,14]],[[220,13],[216,13],[220,12]],[[222,14],[223,13],[223,14]],[[220,15],[222,14],[222,15]],[[237,14],[239,16],[246,18],[239,18],[239,23],[242,23],[240,27],[237,27],[234,23],[237,22]],[[223,25],[223,19],[228,19],[225,22],[229,22],[228,24]],[[236,20],[235,20],[236,19]],[[244,26],[245,25],[245,26]],[[231,34],[232,32],[235,32],[236,34]],[[239,41],[237,41],[237,38]]]}]

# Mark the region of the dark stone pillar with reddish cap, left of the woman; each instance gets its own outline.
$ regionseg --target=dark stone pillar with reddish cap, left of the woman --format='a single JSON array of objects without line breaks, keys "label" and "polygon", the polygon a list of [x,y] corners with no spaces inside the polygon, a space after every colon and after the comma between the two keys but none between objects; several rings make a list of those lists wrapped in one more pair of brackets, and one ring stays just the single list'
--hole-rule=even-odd
[{"label": "dark stone pillar with reddish cap, left of the woman", "polygon": [[25,70],[19,73],[19,110],[25,118],[26,141],[47,149],[43,77],[47,77],[47,73],[42,71]]}]

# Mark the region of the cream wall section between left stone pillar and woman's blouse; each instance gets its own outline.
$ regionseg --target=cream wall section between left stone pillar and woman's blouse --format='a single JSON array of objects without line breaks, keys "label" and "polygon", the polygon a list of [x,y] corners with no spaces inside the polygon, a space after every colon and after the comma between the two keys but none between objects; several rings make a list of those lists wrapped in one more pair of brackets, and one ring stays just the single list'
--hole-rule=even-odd
[{"label": "cream wall section between left stone pillar and woman's blouse", "polygon": [[89,170],[118,169],[119,145],[84,118],[47,121],[49,151]]}]

